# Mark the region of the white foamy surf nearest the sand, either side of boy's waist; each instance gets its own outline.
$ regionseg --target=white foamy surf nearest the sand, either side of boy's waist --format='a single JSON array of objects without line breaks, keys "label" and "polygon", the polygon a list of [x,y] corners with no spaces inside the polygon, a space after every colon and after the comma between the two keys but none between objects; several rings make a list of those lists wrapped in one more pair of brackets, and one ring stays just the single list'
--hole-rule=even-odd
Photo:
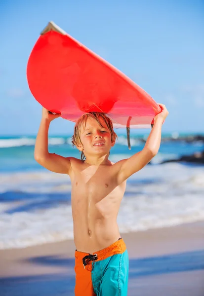
[{"label": "white foamy surf nearest the sand, either side of boy's waist", "polygon": [[[185,205],[185,206],[184,206]],[[118,214],[121,233],[129,233],[204,220],[204,204],[197,196],[155,199],[134,194],[122,200]],[[0,216],[0,249],[25,248],[73,239],[71,205],[46,211]],[[3,231],[2,231],[3,229]]]}]

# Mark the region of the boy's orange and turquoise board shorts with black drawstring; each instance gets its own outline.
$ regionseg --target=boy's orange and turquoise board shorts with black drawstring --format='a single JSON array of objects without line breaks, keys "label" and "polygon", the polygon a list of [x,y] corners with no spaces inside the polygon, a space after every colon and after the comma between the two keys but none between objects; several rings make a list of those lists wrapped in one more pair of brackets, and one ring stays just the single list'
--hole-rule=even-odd
[{"label": "boy's orange and turquoise board shorts with black drawstring", "polygon": [[75,251],[75,296],[127,296],[129,258],[122,238],[94,254]]}]

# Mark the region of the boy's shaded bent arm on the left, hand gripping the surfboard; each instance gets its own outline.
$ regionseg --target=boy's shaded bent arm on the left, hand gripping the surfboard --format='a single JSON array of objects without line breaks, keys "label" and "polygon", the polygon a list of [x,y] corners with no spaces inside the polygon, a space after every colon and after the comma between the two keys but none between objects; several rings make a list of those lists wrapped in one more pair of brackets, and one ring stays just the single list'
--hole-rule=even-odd
[{"label": "boy's shaded bent arm on the left, hand gripping the surfboard", "polygon": [[49,114],[42,108],[41,124],[35,144],[35,160],[46,169],[61,174],[69,174],[71,169],[70,157],[63,157],[48,151],[48,130],[50,122],[61,114]]}]

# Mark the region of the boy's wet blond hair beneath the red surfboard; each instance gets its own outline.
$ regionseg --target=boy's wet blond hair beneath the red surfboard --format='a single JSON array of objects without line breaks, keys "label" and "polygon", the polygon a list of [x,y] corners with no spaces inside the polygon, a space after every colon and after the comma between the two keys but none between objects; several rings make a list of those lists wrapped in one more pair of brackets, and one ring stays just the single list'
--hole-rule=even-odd
[{"label": "boy's wet blond hair beneath the red surfboard", "polygon": [[[78,118],[78,120],[75,124],[74,135],[72,136],[72,141],[71,141],[73,144],[73,147],[79,146],[80,144],[83,147],[80,134],[81,134],[82,126],[85,128],[86,121],[87,121],[88,117],[93,118],[96,122],[98,122],[100,124],[101,127],[104,127],[104,126],[101,124],[99,119],[103,118],[103,120],[105,121],[105,123],[111,133],[111,142],[116,141],[116,139],[118,139],[117,134],[113,130],[113,122],[110,117],[108,117],[105,113],[102,113],[102,112],[89,112],[89,113],[84,113],[80,118]],[[84,160],[85,155],[84,155],[83,151],[81,151],[81,152],[82,152],[81,159]],[[110,152],[109,152],[109,155],[110,155]]]}]

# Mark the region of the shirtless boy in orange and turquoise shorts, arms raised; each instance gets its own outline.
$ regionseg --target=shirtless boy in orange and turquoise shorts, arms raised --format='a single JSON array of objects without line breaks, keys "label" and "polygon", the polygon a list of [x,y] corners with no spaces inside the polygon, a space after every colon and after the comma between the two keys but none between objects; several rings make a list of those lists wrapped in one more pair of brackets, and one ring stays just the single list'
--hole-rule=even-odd
[{"label": "shirtless boy in orange and turquoise shorts, arms raised", "polygon": [[77,121],[73,145],[81,159],[48,152],[50,122],[60,114],[42,109],[35,145],[35,159],[52,172],[69,175],[72,183],[76,296],[126,296],[128,253],[117,225],[126,180],[157,154],[163,121],[163,104],[144,148],[116,163],[108,157],[117,135],[104,113],[85,113]]}]

